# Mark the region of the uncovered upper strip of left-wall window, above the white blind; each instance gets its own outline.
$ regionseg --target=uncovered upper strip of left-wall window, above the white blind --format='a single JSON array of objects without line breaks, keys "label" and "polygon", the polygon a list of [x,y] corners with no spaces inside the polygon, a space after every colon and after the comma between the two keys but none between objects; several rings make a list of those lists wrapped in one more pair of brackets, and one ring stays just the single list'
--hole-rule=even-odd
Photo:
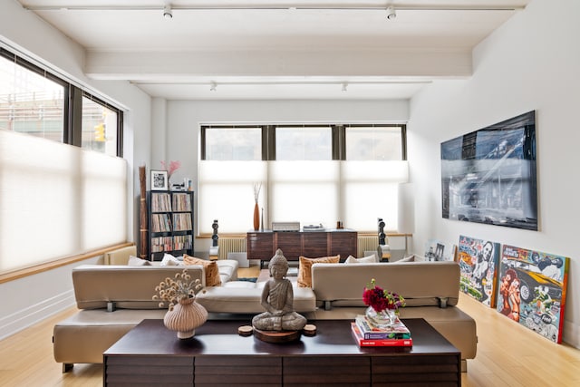
[{"label": "uncovered upper strip of left-wall window, above the white blind", "polygon": [[122,156],[122,111],[0,47],[0,129]]}]

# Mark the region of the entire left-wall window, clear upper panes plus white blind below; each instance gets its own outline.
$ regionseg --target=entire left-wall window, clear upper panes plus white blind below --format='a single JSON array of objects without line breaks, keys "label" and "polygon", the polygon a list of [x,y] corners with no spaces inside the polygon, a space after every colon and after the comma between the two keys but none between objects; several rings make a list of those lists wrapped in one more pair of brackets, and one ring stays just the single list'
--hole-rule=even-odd
[{"label": "entire left-wall window, clear upper panes plus white blind below", "polygon": [[0,47],[0,274],[126,242],[121,133],[122,111]]}]

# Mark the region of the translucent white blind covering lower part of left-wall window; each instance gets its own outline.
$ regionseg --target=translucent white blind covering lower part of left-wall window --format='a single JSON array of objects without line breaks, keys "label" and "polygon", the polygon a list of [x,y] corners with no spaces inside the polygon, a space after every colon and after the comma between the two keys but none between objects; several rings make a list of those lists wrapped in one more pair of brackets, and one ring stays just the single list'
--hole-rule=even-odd
[{"label": "translucent white blind covering lower part of left-wall window", "polygon": [[0,272],[127,240],[126,161],[0,130]]}]

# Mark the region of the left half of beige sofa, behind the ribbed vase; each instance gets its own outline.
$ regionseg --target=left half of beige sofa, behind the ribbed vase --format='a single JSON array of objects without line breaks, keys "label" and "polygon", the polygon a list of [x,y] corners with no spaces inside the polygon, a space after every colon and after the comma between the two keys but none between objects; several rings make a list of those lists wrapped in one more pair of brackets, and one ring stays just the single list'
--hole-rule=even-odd
[{"label": "left half of beige sofa, behind the ribbed vase", "polygon": [[[155,286],[184,267],[205,286],[203,266],[82,265],[73,268],[79,311],[54,325],[53,354],[63,371],[73,363],[102,363],[102,353],[143,319],[160,319],[167,308],[153,301]],[[237,261],[219,262],[221,280],[237,279]]]}]

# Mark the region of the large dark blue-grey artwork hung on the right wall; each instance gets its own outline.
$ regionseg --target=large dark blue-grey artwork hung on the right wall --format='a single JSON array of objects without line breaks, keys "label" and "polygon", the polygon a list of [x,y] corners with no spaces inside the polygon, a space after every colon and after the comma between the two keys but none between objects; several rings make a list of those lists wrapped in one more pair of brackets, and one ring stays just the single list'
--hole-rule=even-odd
[{"label": "large dark blue-grey artwork hung on the right wall", "polygon": [[441,143],[442,216],[537,230],[536,114]]}]

